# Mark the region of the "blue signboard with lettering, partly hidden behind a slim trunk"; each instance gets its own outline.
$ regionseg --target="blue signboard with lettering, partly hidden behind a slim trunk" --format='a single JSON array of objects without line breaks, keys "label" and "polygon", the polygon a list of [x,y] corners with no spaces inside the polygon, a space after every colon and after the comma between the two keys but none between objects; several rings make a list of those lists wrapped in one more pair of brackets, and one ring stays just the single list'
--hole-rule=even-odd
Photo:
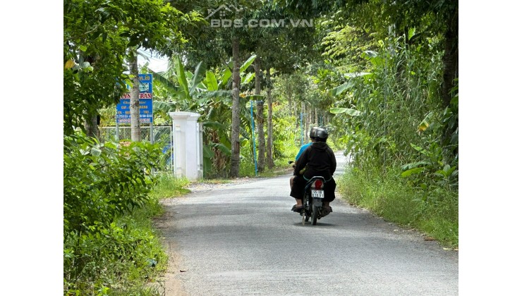
[{"label": "blue signboard with lettering, partly hidden behind a slim trunk", "polygon": [[[140,123],[152,123],[152,74],[140,74]],[[116,123],[130,123],[130,93],[116,105]]]}]

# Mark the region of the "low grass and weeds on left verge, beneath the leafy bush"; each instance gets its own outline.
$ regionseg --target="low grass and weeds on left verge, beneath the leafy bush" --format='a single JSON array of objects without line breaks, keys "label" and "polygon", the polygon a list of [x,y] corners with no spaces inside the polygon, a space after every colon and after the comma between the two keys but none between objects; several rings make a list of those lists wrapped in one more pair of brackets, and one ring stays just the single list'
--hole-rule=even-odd
[{"label": "low grass and weeds on left verge, beneath the leafy bush", "polygon": [[163,213],[157,198],[114,219],[95,233],[70,233],[64,240],[65,295],[160,295],[156,278],[168,257],[152,217]]}]

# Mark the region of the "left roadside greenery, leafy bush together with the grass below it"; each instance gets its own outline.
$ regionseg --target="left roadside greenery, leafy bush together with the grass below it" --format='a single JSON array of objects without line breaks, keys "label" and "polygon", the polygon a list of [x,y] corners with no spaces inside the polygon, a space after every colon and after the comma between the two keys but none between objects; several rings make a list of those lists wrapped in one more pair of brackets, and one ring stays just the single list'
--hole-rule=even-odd
[{"label": "left roadside greenery, leafy bush together with the grass below it", "polygon": [[152,295],[146,283],[166,264],[150,222],[162,211],[149,195],[160,157],[145,142],[64,137],[64,294]]}]

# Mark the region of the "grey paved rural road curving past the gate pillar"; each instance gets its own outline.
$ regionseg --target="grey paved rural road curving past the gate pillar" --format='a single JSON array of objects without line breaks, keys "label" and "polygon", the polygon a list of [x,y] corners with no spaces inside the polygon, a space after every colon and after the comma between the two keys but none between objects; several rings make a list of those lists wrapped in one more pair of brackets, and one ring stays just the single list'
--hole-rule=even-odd
[{"label": "grey paved rural road curving past the gate pillar", "polygon": [[[336,154],[336,175],[346,158]],[[459,295],[459,254],[337,198],[303,226],[291,175],[195,188],[157,221],[164,295]]]}]

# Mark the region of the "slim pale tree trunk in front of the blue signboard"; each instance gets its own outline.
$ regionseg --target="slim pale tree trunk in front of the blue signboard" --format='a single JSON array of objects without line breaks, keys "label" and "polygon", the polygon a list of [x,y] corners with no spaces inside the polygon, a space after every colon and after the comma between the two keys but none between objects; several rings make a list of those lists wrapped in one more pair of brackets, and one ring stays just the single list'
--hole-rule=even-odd
[{"label": "slim pale tree trunk in front of the blue signboard", "polygon": [[133,88],[130,90],[130,140],[141,141],[140,131],[140,79],[138,78],[138,51],[131,50],[129,63],[130,75],[134,75]]}]

